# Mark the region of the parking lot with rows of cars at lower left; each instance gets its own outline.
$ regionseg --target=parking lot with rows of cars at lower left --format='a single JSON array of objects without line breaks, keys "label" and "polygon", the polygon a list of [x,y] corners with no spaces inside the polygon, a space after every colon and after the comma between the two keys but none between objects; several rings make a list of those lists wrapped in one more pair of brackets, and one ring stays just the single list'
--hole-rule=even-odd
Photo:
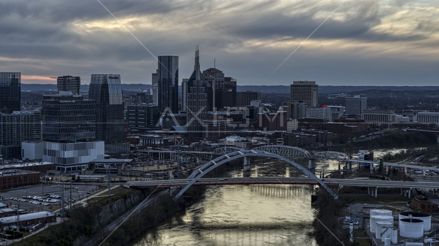
[{"label": "parking lot with rows of cars at lower left", "polygon": [[[78,189],[76,189],[78,188]],[[97,190],[96,186],[76,186],[75,184],[72,185],[72,191],[71,191],[71,198],[78,200],[79,198],[82,198],[84,196],[87,196],[87,192],[93,193],[94,189]],[[53,197],[50,198],[49,195],[53,196],[59,196],[60,198]],[[28,211],[39,211],[42,209],[48,209],[49,206],[57,206],[61,203],[62,200],[62,185],[50,185],[44,187],[42,185],[40,186],[33,186],[33,187],[25,187],[25,188],[19,188],[19,189],[13,189],[13,190],[3,190],[0,191],[0,196],[2,200],[0,202],[9,204],[11,207],[17,206],[17,203],[19,201],[13,200],[11,198],[18,198],[21,199],[20,201],[20,209],[26,209]],[[32,199],[32,198],[23,198],[23,197],[30,197],[30,196],[38,196],[42,199],[52,199],[58,200],[57,202],[49,202],[49,201],[42,201],[41,199]],[[6,200],[7,199],[7,200]],[[54,199],[54,200],[53,200]],[[70,186],[65,185],[64,186],[64,200],[70,199]],[[34,203],[32,203],[34,202]],[[44,203],[44,204],[35,204],[35,203]],[[67,204],[67,203],[65,203]]]}]

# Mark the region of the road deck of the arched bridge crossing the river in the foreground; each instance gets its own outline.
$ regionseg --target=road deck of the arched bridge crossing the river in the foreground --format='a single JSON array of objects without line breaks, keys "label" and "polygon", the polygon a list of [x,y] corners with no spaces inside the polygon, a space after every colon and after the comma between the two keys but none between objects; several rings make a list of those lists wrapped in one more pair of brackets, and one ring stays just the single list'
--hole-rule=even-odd
[{"label": "road deck of the arched bridge crossing the river in the foreground", "polygon": [[[173,180],[153,180],[127,182],[130,188],[155,188],[155,187],[182,187],[186,186],[192,179],[173,179]],[[358,187],[388,187],[388,188],[439,188],[438,182],[404,182],[404,181],[385,181],[374,179],[324,179],[327,186],[358,186]],[[313,178],[291,178],[291,177],[262,177],[262,178],[200,178],[194,186],[209,185],[317,185]]]}]

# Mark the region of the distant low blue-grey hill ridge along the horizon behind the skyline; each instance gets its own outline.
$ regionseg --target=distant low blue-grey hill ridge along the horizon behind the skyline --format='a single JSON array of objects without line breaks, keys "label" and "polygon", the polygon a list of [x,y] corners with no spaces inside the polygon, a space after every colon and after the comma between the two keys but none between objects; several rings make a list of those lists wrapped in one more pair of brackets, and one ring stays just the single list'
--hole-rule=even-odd
[{"label": "distant low blue-grey hill ridge along the horizon behind the skyline", "polygon": [[[88,85],[81,85],[81,90],[88,91]],[[289,93],[290,86],[236,86],[237,91],[253,90],[265,93]],[[151,89],[151,85],[122,84],[123,90]],[[23,91],[57,90],[53,84],[22,84]],[[439,86],[319,86],[320,93],[349,93],[364,90],[392,90],[392,91],[435,91]]]}]

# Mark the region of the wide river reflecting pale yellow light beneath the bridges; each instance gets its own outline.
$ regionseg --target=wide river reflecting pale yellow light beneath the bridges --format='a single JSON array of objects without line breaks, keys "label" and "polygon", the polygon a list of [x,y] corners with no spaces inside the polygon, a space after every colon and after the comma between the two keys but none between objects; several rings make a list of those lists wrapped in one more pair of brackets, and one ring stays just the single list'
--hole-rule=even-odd
[{"label": "wide river reflecting pale yellow light beneath the bridges", "polygon": [[[380,157],[401,150],[407,148],[374,153]],[[347,154],[357,157],[357,153]],[[305,160],[298,163],[307,166]],[[338,169],[338,161],[316,161],[316,168]],[[301,175],[296,168],[268,158],[253,163],[251,168],[254,177]],[[226,176],[242,176],[242,170],[228,170]],[[317,245],[306,235],[312,230],[313,189],[294,185],[211,186],[185,214],[175,215],[148,231],[134,245]]]}]

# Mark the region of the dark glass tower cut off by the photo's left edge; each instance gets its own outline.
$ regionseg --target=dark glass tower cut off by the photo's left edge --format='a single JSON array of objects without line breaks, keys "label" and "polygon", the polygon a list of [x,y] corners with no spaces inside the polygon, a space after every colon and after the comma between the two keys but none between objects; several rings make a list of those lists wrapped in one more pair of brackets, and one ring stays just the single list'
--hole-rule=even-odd
[{"label": "dark glass tower cut off by the photo's left edge", "polygon": [[3,113],[20,111],[21,73],[0,72],[0,110]]}]

